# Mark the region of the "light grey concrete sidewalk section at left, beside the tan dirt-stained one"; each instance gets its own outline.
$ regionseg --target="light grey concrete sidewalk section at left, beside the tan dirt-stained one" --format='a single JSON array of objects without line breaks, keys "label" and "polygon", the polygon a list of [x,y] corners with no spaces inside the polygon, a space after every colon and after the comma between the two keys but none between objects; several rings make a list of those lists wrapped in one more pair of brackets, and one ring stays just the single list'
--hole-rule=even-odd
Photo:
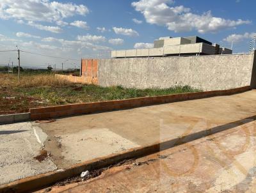
[{"label": "light grey concrete sidewalk section at left, beside the tan dirt-stained one", "polygon": [[0,184],[57,169],[47,156],[35,159],[41,150],[32,123],[0,125]]}]

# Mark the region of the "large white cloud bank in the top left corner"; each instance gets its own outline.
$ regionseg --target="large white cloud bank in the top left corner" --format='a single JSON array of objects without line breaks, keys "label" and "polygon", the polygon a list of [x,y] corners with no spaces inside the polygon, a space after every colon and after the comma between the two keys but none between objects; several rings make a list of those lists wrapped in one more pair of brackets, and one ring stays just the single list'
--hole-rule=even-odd
[{"label": "large white cloud bank in the top left corner", "polygon": [[89,10],[83,4],[59,3],[49,0],[1,0],[1,19],[56,22],[74,15],[86,15]]}]

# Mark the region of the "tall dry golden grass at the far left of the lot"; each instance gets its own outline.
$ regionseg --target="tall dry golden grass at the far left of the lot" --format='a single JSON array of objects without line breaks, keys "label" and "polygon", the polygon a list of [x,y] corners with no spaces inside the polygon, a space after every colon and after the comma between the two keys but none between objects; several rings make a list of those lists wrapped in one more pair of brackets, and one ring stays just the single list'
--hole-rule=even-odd
[{"label": "tall dry golden grass at the far left of the lot", "polygon": [[72,83],[57,78],[54,74],[29,74],[22,75],[20,81],[17,75],[0,75],[0,88],[40,88],[40,87],[63,87]]}]

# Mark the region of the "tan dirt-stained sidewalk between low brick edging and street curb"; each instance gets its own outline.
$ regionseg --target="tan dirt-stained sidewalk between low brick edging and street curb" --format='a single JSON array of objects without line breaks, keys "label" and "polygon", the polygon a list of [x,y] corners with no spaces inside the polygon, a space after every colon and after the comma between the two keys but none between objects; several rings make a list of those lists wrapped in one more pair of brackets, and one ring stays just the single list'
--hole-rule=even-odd
[{"label": "tan dirt-stained sidewalk between low brick edging and street curb", "polygon": [[[233,121],[245,121],[246,118],[252,121],[256,114],[255,98],[256,90],[252,90],[232,96],[61,118],[52,123],[40,123],[38,127],[49,136],[45,149],[51,151],[54,163],[63,168],[79,163],[79,160],[121,152],[122,146],[125,149],[146,146],[209,128],[232,128],[236,124],[228,124]],[[79,142],[87,135],[104,139],[104,143],[96,143],[95,140]],[[105,135],[117,139],[119,148],[111,146]]]}]

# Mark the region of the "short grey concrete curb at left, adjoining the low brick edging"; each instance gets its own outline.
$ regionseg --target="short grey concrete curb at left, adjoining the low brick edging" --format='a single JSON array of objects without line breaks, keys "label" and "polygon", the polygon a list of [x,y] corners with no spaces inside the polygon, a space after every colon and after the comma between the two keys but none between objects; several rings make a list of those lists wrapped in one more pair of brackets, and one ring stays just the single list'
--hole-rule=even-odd
[{"label": "short grey concrete curb at left, adjoining the low brick edging", "polygon": [[0,115],[0,125],[30,120],[30,112]]}]

